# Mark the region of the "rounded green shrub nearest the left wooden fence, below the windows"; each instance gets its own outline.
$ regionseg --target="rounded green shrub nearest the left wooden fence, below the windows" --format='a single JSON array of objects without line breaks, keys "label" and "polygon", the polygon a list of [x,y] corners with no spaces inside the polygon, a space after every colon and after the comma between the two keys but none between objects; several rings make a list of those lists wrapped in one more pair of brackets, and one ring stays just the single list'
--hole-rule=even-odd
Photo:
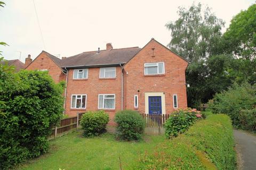
[{"label": "rounded green shrub nearest the left wooden fence, below the windows", "polygon": [[83,136],[93,137],[105,132],[108,121],[109,116],[104,111],[86,112],[81,120]]}]

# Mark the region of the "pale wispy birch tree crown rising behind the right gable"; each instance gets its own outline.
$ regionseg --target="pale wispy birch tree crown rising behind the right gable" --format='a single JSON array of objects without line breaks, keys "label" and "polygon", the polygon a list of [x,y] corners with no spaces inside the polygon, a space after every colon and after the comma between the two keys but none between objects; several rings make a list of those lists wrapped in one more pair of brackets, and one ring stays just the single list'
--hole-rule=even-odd
[{"label": "pale wispy birch tree crown rising behind the right gable", "polygon": [[214,54],[221,48],[221,28],[224,22],[218,19],[201,3],[193,4],[189,9],[179,7],[179,19],[165,26],[171,30],[169,47],[189,62],[197,62]]}]

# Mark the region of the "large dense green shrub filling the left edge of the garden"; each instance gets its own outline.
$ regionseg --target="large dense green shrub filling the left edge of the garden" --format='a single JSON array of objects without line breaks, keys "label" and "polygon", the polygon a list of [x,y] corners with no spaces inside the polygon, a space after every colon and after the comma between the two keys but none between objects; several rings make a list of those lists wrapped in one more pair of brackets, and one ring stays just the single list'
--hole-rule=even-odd
[{"label": "large dense green shrub filling the left edge of the garden", "polygon": [[47,137],[62,116],[63,87],[45,72],[16,74],[1,66],[0,74],[0,169],[10,169],[49,149]]}]

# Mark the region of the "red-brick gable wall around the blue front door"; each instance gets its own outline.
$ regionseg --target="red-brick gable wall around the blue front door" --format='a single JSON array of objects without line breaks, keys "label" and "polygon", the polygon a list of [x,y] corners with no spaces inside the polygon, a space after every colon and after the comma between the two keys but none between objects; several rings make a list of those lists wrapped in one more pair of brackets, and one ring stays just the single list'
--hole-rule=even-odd
[{"label": "red-brick gable wall around the blue front door", "polygon": [[[154,48],[154,52],[152,48]],[[154,62],[164,62],[165,74],[158,76],[144,75],[144,64]],[[186,61],[169,49],[157,41],[151,40],[124,66],[127,72],[125,74],[125,108],[134,109],[134,95],[138,95],[138,110],[145,112],[145,92],[164,92],[166,114],[174,111],[172,97],[174,94],[178,95],[178,107],[186,108],[185,70],[187,64]]]}]

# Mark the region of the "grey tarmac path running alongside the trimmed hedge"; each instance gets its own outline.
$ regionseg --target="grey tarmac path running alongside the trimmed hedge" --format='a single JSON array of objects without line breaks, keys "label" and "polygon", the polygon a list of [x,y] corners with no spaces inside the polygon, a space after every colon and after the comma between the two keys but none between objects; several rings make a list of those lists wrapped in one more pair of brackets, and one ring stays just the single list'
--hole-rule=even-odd
[{"label": "grey tarmac path running alongside the trimmed hedge", "polygon": [[244,131],[234,130],[238,169],[256,169],[256,136]]}]

